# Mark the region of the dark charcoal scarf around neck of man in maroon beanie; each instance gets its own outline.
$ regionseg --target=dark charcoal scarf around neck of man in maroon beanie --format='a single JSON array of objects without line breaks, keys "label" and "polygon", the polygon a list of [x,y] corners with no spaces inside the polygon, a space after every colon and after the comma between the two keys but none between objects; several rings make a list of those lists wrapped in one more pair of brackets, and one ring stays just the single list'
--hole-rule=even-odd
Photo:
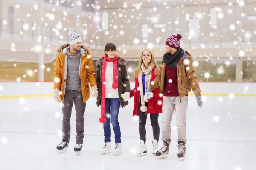
[{"label": "dark charcoal scarf around neck of man in maroon beanie", "polygon": [[184,55],[184,50],[181,47],[179,47],[176,53],[173,55],[171,53],[165,53],[163,55],[163,62],[166,63],[168,67],[176,67],[178,61],[183,55]]}]

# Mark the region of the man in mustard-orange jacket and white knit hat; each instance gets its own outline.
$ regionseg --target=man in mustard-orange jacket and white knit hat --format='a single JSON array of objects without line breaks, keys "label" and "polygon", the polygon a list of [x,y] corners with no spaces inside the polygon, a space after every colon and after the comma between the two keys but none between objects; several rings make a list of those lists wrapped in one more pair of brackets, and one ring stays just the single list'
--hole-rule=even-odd
[{"label": "man in mustard-orange jacket and white knit hat", "polygon": [[82,39],[76,32],[69,31],[68,34],[70,44],[58,48],[54,67],[54,99],[63,103],[62,141],[57,150],[63,153],[69,146],[70,118],[75,103],[77,135],[74,151],[79,154],[84,139],[85,102],[90,95],[97,97],[98,89],[90,48],[81,44]]}]

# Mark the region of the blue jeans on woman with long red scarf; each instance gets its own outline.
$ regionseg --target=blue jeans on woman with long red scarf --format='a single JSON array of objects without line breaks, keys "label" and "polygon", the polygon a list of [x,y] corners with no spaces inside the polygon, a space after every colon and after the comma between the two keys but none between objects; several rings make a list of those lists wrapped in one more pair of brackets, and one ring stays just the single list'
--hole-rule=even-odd
[{"label": "blue jeans on woman with long red scarf", "polygon": [[110,122],[113,126],[113,130],[115,133],[115,140],[116,143],[121,143],[121,130],[120,125],[118,122],[118,114],[120,109],[120,101],[119,98],[106,98],[106,111],[105,111],[105,118],[106,121],[103,124],[104,129],[104,142],[110,142]]}]

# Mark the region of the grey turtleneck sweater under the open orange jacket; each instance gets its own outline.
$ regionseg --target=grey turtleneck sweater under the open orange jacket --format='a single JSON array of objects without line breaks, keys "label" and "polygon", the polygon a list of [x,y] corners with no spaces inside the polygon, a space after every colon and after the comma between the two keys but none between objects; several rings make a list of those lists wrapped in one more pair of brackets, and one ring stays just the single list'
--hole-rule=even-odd
[{"label": "grey turtleneck sweater under the open orange jacket", "polygon": [[81,89],[81,79],[79,76],[79,65],[81,51],[76,54],[70,54],[70,47],[67,49],[67,86],[66,90]]}]

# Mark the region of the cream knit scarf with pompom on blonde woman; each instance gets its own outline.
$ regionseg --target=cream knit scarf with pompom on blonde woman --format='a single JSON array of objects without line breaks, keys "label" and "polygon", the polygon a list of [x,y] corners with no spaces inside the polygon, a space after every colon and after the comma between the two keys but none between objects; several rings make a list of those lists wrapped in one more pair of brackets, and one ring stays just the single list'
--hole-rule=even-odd
[{"label": "cream knit scarf with pompom on blonde woman", "polygon": [[[151,65],[149,65],[148,69],[145,69],[144,63],[142,63],[142,65],[141,65],[141,69],[142,69],[143,73],[146,75],[146,77],[145,77],[145,93],[147,92],[147,90],[151,84],[151,74],[152,74],[152,70],[153,70],[154,66],[155,66],[154,63],[152,63]],[[143,84],[142,84],[143,73],[141,72],[138,75],[139,87],[140,87],[140,100],[141,100],[140,110],[142,112],[146,112],[148,108],[145,106],[145,101],[144,101]]]}]

